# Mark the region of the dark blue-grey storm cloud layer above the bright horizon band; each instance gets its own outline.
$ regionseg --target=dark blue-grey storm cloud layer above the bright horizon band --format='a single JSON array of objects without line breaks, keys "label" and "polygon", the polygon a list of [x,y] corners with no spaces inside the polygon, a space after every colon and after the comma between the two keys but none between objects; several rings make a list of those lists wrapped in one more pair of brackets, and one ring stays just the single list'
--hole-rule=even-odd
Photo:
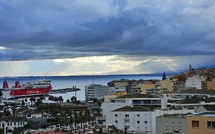
[{"label": "dark blue-grey storm cloud layer above the bright horizon band", "polygon": [[0,56],[214,54],[214,12],[214,0],[0,0]]}]

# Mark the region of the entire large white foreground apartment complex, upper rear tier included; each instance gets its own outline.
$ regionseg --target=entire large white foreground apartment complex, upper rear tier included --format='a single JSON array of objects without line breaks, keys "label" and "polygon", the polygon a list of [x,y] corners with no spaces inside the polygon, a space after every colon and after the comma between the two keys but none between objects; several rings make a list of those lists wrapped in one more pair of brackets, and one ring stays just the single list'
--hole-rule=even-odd
[{"label": "entire large white foreground apartment complex, upper rear tier included", "polygon": [[[139,96],[139,97],[138,97]],[[144,98],[138,96],[127,96],[127,98],[111,99],[111,102],[102,104],[102,113],[105,118],[103,125],[108,131],[109,126],[115,126],[120,131],[129,133],[156,134],[156,117],[163,114],[194,113],[194,109],[187,110],[166,110],[167,97]],[[147,95],[146,95],[147,96]],[[161,107],[160,110],[148,109],[145,107]]]}]

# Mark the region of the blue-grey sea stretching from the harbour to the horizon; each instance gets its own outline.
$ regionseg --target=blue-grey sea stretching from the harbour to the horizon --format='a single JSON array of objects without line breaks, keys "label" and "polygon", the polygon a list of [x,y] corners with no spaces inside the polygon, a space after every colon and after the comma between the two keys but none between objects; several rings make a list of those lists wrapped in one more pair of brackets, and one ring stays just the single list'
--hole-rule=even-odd
[{"label": "blue-grey sea stretching from the harbour to the horizon", "polygon": [[89,76],[28,76],[28,77],[0,77],[0,87],[3,87],[3,82],[7,81],[9,87],[15,86],[15,82],[20,84],[33,82],[40,79],[51,80],[52,90],[63,88],[79,88],[77,92],[67,92],[62,94],[51,94],[53,96],[62,96],[64,101],[76,96],[77,100],[85,100],[85,86],[90,84],[107,85],[112,80],[161,80],[162,74],[132,74],[132,75],[89,75]]}]

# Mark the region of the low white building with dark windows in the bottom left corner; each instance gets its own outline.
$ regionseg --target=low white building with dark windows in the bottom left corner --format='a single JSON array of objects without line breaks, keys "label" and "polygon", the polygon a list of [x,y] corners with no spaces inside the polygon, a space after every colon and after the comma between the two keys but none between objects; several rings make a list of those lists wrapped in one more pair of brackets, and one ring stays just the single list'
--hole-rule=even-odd
[{"label": "low white building with dark windows in the bottom left corner", "polygon": [[0,128],[6,134],[8,131],[14,131],[15,128],[23,128],[27,124],[25,117],[7,117],[0,118]]}]

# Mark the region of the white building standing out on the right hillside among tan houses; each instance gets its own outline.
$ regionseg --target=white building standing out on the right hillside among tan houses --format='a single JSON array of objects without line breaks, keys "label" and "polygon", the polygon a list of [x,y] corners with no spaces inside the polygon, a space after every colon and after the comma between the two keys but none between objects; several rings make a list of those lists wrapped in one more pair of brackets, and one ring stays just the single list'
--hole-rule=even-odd
[{"label": "white building standing out on the right hillside among tan houses", "polygon": [[202,89],[202,81],[204,81],[204,78],[199,75],[188,77],[186,80],[186,88]]}]

